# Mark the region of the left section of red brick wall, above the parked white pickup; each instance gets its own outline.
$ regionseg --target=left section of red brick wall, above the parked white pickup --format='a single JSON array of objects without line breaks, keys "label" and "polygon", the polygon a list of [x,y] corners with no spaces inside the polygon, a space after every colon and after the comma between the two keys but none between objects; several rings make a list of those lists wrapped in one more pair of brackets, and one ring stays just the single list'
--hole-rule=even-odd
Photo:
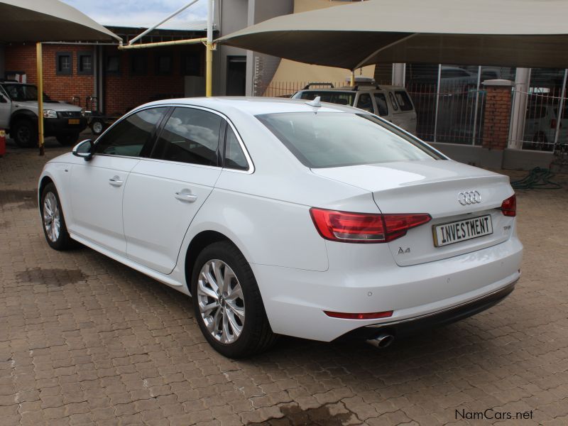
[{"label": "left section of red brick wall, above the parked white pickup", "polygon": [[[81,97],[84,107],[85,98],[92,96],[94,77],[77,75],[77,52],[92,51],[92,46],[78,45],[43,45],[43,92],[56,101],[71,102],[74,96]],[[72,75],[57,75],[57,52],[72,53]],[[25,71],[27,82],[37,84],[35,65],[35,45],[11,45],[6,48],[6,71]]]}]

